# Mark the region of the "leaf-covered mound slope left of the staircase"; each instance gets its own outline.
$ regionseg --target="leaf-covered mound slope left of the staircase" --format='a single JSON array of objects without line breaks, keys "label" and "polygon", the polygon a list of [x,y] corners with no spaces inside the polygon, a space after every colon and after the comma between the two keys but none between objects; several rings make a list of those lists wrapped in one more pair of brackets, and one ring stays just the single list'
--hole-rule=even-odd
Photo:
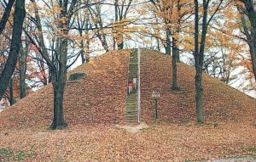
[{"label": "leaf-covered mound slope left of the staircase", "polygon": [[[84,73],[67,81],[64,114],[68,126],[125,121],[129,51],[110,52],[68,73]],[[53,90],[46,86],[0,113],[0,129],[48,127],[53,118]]]}]

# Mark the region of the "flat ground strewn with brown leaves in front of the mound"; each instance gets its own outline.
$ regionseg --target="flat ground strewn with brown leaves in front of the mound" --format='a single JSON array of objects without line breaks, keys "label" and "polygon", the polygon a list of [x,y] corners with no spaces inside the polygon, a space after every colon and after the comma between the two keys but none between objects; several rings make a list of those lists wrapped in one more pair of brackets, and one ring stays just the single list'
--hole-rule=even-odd
[{"label": "flat ground strewn with brown leaves in front of the mound", "polygon": [[253,155],[256,146],[256,129],[234,123],[220,123],[218,128],[193,123],[151,125],[139,133],[114,126],[16,130],[8,136],[3,132],[0,131],[0,149],[32,153],[26,161],[207,161]]}]

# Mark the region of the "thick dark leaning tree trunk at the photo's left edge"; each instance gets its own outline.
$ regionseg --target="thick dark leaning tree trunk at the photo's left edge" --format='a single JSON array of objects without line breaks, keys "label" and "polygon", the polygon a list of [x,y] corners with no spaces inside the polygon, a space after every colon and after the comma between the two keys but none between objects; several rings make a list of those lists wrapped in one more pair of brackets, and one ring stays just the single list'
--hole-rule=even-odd
[{"label": "thick dark leaning tree trunk at the photo's left edge", "polygon": [[17,63],[19,51],[20,51],[20,42],[21,42],[21,33],[23,21],[25,18],[25,0],[17,0],[15,5],[15,20],[14,20],[14,29],[12,34],[11,47],[9,51],[9,57],[7,63],[3,69],[3,72],[0,77],[0,101],[3,98],[11,76],[15,70],[15,65]]}]

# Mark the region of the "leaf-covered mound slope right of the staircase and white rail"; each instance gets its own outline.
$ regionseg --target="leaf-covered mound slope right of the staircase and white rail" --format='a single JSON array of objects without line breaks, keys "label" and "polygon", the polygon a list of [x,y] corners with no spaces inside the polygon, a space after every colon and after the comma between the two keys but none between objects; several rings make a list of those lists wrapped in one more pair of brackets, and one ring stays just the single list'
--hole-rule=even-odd
[{"label": "leaf-covered mound slope right of the staircase and white rail", "polygon": [[[154,119],[151,93],[160,92],[160,120],[188,122],[195,116],[195,69],[177,63],[177,85],[180,91],[172,92],[172,59],[155,51],[142,53],[142,108],[143,119]],[[255,122],[256,99],[227,86],[224,82],[203,75],[204,115],[208,122]],[[151,102],[148,102],[150,101]]]}]

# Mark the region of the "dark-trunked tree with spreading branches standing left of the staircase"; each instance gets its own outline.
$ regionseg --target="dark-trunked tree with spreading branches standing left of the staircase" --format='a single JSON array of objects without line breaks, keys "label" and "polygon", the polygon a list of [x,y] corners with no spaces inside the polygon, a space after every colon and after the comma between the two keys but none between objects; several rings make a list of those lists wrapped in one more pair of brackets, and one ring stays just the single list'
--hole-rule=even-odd
[{"label": "dark-trunked tree with spreading branches standing left of the staircase", "polygon": [[[75,53],[72,52],[73,48],[77,47],[77,45],[80,47],[80,42],[84,39],[84,33],[80,32],[77,35],[77,32],[75,32],[75,30],[84,30],[84,28],[78,29],[77,25],[79,21],[77,21],[78,18],[76,17],[78,14],[75,14],[75,12],[78,12],[79,9],[87,8],[88,14],[88,8],[96,3],[60,0],[50,3],[50,5],[45,2],[45,8],[38,8],[34,0],[31,0],[31,2],[32,9],[34,10],[31,16],[33,17],[32,20],[34,20],[33,22],[35,22],[34,24],[37,30],[33,32],[26,31],[26,36],[29,37],[33,46],[38,49],[38,53],[42,55],[49,67],[50,78],[54,89],[54,119],[50,127],[51,129],[61,129],[67,126],[64,120],[63,95],[67,80],[67,69],[73,64],[68,64],[70,59],[73,58],[70,53]],[[44,12],[40,13],[42,9],[44,9]],[[44,31],[42,21],[44,21],[50,32]],[[85,19],[82,23],[86,23],[86,21]],[[80,27],[84,27],[84,25],[80,24]],[[47,33],[47,39],[44,33]],[[45,42],[48,40],[53,40],[55,46],[47,47],[48,44]],[[74,54],[74,61],[79,58],[83,50],[79,50],[78,53]]]}]

